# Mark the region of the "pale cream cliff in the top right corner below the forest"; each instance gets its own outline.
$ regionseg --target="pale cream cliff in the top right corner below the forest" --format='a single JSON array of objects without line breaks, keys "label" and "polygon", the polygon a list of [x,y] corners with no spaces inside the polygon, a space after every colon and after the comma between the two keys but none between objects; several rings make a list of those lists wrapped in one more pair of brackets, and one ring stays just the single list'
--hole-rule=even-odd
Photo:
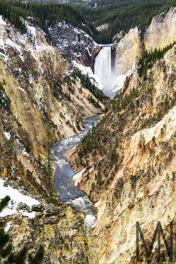
[{"label": "pale cream cliff in the top right corner below the forest", "polygon": [[144,36],[145,49],[164,48],[176,39],[176,8],[155,16]]}]

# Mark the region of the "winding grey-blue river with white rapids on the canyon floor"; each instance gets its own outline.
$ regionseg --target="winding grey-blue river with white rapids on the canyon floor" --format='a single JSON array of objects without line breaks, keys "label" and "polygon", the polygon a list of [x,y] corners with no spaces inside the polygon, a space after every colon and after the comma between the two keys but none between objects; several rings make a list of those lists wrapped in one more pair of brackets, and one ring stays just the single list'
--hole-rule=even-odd
[{"label": "winding grey-blue river with white rapids on the canyon floor", "polygon": [[84,132],[53,145],[53,158],[56,167],[54,188],[56,192],[60,193],[60,199],[63,203],[72,201],[78,210],[87,214],[85,217],[86,227],[90,227],[96,222],[95,214],[97,211],[87,195],[74,185],[72,178],[75,172],[70,167],[70,162],[65,160],[64,152],[75,147],[89,129],[92,130],[92,121],[96,124],[99,117],[100,115],[96,115],[84,119]]}]

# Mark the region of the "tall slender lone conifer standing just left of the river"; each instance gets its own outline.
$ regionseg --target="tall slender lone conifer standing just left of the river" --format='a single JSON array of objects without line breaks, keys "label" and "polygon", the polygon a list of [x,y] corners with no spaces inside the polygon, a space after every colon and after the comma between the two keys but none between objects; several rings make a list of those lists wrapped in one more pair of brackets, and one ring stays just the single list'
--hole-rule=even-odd
[{"label": "tall slender lone conifer standing just left of the river", "polygon": [[51,200],[54,198],[54,178],[53,178],[53,157],[52,157],[52,149],[51,149],[51,135],[52,135],[52,126],[50,124],[50,117],[47,114],[47,125],[46,125],[46,134],[45,134],[45,186],[48,191],[48,200],[51,202]]}]

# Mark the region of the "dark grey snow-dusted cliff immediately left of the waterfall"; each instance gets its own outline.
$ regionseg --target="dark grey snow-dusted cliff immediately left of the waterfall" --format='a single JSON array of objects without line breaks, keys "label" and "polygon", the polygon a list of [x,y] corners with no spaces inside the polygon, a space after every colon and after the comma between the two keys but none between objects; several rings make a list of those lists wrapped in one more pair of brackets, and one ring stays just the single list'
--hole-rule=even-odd
[{"label": "dark grey snow-dusted cliff immediately left of the waterfall", "polygon": [[59,23],[51,30],[53,43],[72,60],[93,70],[94,59],[101,49],[84,31]]}]

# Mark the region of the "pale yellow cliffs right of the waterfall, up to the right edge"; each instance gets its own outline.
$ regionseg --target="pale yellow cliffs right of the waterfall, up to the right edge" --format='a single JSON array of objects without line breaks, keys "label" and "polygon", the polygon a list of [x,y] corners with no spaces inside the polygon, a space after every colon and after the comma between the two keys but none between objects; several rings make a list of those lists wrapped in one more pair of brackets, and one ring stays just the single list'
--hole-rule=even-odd
[{"label": "pale yellow cliffs right of the waterfall, up to the right edge", "polygon": [[133,62],[138,61],[144,50],[164,48],[176,39],[176,9],[155,16],[144,35],[138,28],[132,28],[128,34],[114,43],[112,53],[115,56],[114,71],[117,76],[126,75]]}]

